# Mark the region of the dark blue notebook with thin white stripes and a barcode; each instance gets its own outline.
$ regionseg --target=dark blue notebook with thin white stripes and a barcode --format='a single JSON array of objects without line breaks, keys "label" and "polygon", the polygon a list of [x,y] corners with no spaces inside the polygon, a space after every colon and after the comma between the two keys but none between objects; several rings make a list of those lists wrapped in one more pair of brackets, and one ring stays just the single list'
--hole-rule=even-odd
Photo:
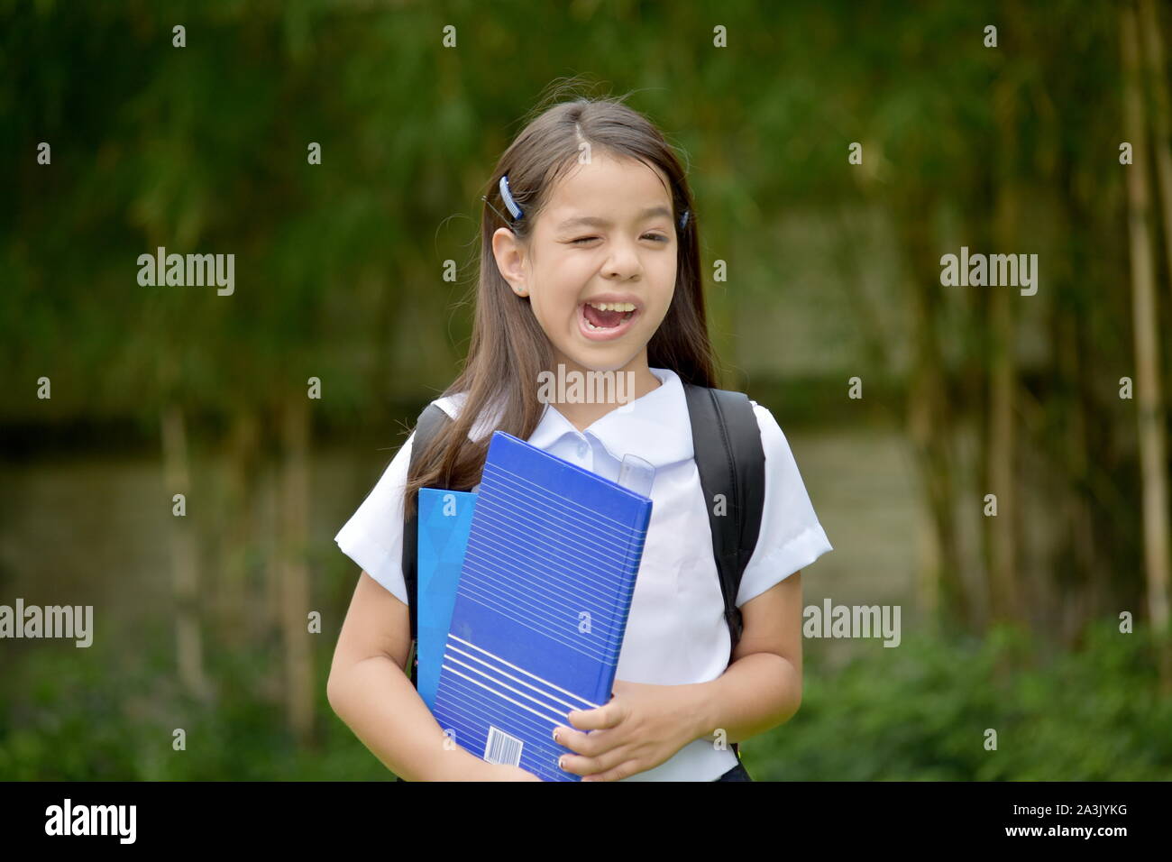
[{"label": "dark blue notebook with thin white stripes and a barcode", "polygon": [[492,434],[431,710],[457,745],[581,780],[551,733],[611,699],[650,515],[648,497]]}]

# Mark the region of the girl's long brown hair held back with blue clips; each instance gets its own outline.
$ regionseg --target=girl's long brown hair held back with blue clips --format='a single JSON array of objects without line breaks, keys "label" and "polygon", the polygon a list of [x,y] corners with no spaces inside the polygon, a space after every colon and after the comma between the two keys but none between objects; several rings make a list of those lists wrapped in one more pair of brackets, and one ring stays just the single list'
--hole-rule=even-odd
[{"label": "girl's long brown hair held back with blue clips", "polygon": [[[700,278],[697,219],[684,171],[672,147],[621,97],[579,97],[554,104],[522,130],[500,156],[489,183],[488,203],[481,215],[481,269],[468,359],[459,376],[441,395],[465,393],[465,400],[458,418],[442,427],[409,471],[404,497],[408,516],[420,488],[470,490],[481,481],[491,435],[472,442],[468,434],[483,414],[499,414],[496,429],[522,440],[527,440],[541,420],[545,405],[538,399],[537,381],[539,372],[552,369],[552,347],[529,298],[517,296],[497,269],[492,235],[504,226],[522,243],[531,239],[533,222],[550,190],[575,163],[582,142],[590,143],[592,152],[602,150],[655,165],[669,179],[679,236],[675,294],[663,323],[647,344],[647,364],[670,368],[684,382],[716,386]],[[516,223],[503,218],[507,210],[500,199],[499,182],[505,175],[525,213]],[[679,219],[686,209],[691,215],[680,232]]]}]

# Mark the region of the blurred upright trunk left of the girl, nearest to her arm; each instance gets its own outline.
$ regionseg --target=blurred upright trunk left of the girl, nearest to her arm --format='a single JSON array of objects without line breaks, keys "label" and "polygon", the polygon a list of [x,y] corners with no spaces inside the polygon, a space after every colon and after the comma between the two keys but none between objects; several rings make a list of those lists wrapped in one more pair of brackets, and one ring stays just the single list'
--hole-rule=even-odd
[{"label": "blurred upright trunk left of the girl, nearest to her arm", "polygon": [[281,410],[284,456],[280,478],[280,613],[285,652],[285,705],[298,742],[313,728],[313,666],[309,651],[309,407],[302,393]]}]

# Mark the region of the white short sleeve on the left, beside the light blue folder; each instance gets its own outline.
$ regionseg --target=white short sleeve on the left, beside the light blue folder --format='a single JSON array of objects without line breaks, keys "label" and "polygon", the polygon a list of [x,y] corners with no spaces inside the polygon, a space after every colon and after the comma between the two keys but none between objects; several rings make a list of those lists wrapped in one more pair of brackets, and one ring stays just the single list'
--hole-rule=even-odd
[{"label": "white short sleeve on the left, beside the light blue folder", "polygon": [[404,605],[409,603],[403,578],[403,489],[414,440],[415,432],[411,432],[374,490],[334,536],[342,554]]}]

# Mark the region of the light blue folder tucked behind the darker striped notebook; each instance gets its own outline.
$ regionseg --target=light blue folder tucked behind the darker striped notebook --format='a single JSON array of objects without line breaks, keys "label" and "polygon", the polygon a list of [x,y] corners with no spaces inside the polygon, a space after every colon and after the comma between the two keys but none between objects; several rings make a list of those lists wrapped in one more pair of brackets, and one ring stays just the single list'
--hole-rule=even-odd
[{"label": "light blue folder tucked behind the darker striped notebook", "polygon": [[418,509],[416,684],[423,703],[434,711],[476,494],[420,488]]}]

